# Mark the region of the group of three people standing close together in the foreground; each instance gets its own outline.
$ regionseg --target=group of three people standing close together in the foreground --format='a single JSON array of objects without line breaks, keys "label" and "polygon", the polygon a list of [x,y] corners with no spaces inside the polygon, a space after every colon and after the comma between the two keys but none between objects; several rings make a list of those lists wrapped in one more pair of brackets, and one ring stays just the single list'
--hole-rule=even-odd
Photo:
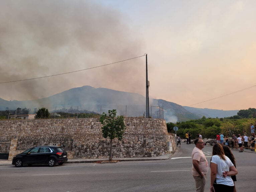
[{"label": "group of three people standing close together in the foreground", "polygon": [[[204,192],[206,175],[209,171],[208,161],[202,152],[205,143],[202,139],[195,140],[196,147],[192,152],[192,175],[196,183],[196,191]],[[238,173],[235,158],[228,146],[216,143],[211,158],[211,192],[236,192],[235,183]]]}]

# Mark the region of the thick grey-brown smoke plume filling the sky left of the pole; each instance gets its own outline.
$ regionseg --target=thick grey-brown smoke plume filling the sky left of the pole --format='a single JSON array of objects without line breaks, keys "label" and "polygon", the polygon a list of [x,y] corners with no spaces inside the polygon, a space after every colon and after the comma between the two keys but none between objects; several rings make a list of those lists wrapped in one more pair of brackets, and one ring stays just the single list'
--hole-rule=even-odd
[{"label": "thick grey-brown smoke plume filling the sky left of the pole", "polygon": [[[2,0],[0,82],[41,77],[143,55],[126,18],[92,1]],[[31,100],[83,85],[144,95],[145,57],[36,80],[1,83],[0,98]]]}]

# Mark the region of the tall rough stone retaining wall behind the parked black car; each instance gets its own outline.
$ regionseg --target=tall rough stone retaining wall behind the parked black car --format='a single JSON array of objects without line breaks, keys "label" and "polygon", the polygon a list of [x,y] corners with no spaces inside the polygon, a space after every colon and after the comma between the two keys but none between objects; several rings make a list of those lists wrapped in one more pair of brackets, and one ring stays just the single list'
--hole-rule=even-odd
[{"label": "tall rough stone retaining wall behind the parked black car", "polygon": [[[167,133],[165,120],[125,118],[126,130],[121,141],[113,142],[113,157],[153,157],[176,150],[173,134]],[[72,151],[69,158],[108,158],[109,139],[102,137],[101,123],[97,118],[85,119],[44,119],[0,121],[0,137],[13,137],[9,159],[19,153],[19,137],[71,136]]]}]

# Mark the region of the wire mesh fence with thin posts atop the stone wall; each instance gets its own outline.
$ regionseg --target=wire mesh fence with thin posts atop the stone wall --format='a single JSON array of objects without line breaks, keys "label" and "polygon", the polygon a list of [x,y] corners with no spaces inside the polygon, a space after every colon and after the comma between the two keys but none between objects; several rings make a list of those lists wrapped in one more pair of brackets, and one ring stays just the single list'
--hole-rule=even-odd
[{"label": "wire mesh fence with thin posts atop the stone wall", "polygon": [[[108,114],[108,110],[117,110],[118,116],[124,117],[146,117],[146,106],[130,105],[92,105],[92,106],[62,106],[44,107],[50,113],[49,118],[97,118],[102,113]],[[17,108],[1,111],[5,119],[33,119],[36,112],[41,108]],[[149,106],[150,118],[164,119],[163,108],[160,106]],[[27,116],[26,116],[27,115]]]}]

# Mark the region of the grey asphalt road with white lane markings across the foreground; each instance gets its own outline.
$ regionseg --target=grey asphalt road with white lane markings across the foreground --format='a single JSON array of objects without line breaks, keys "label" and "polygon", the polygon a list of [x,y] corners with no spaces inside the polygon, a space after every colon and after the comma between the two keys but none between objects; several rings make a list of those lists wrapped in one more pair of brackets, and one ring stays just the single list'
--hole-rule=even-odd
[{"label": "grey asphalt road with white lane markings across the foreground", "polygon": [[[127,161],[116,164],[64,164],[47,166],[0,166],[1,192],[140,192],[195,191],[191,175],[191,151],[182,144],[168,160]],[[211,147],[205,147],[210,164]],[[237,162],[237,191],[255,191],[255,153],[233,151]],[[206,190],[210,191],[210,171]]]}]

